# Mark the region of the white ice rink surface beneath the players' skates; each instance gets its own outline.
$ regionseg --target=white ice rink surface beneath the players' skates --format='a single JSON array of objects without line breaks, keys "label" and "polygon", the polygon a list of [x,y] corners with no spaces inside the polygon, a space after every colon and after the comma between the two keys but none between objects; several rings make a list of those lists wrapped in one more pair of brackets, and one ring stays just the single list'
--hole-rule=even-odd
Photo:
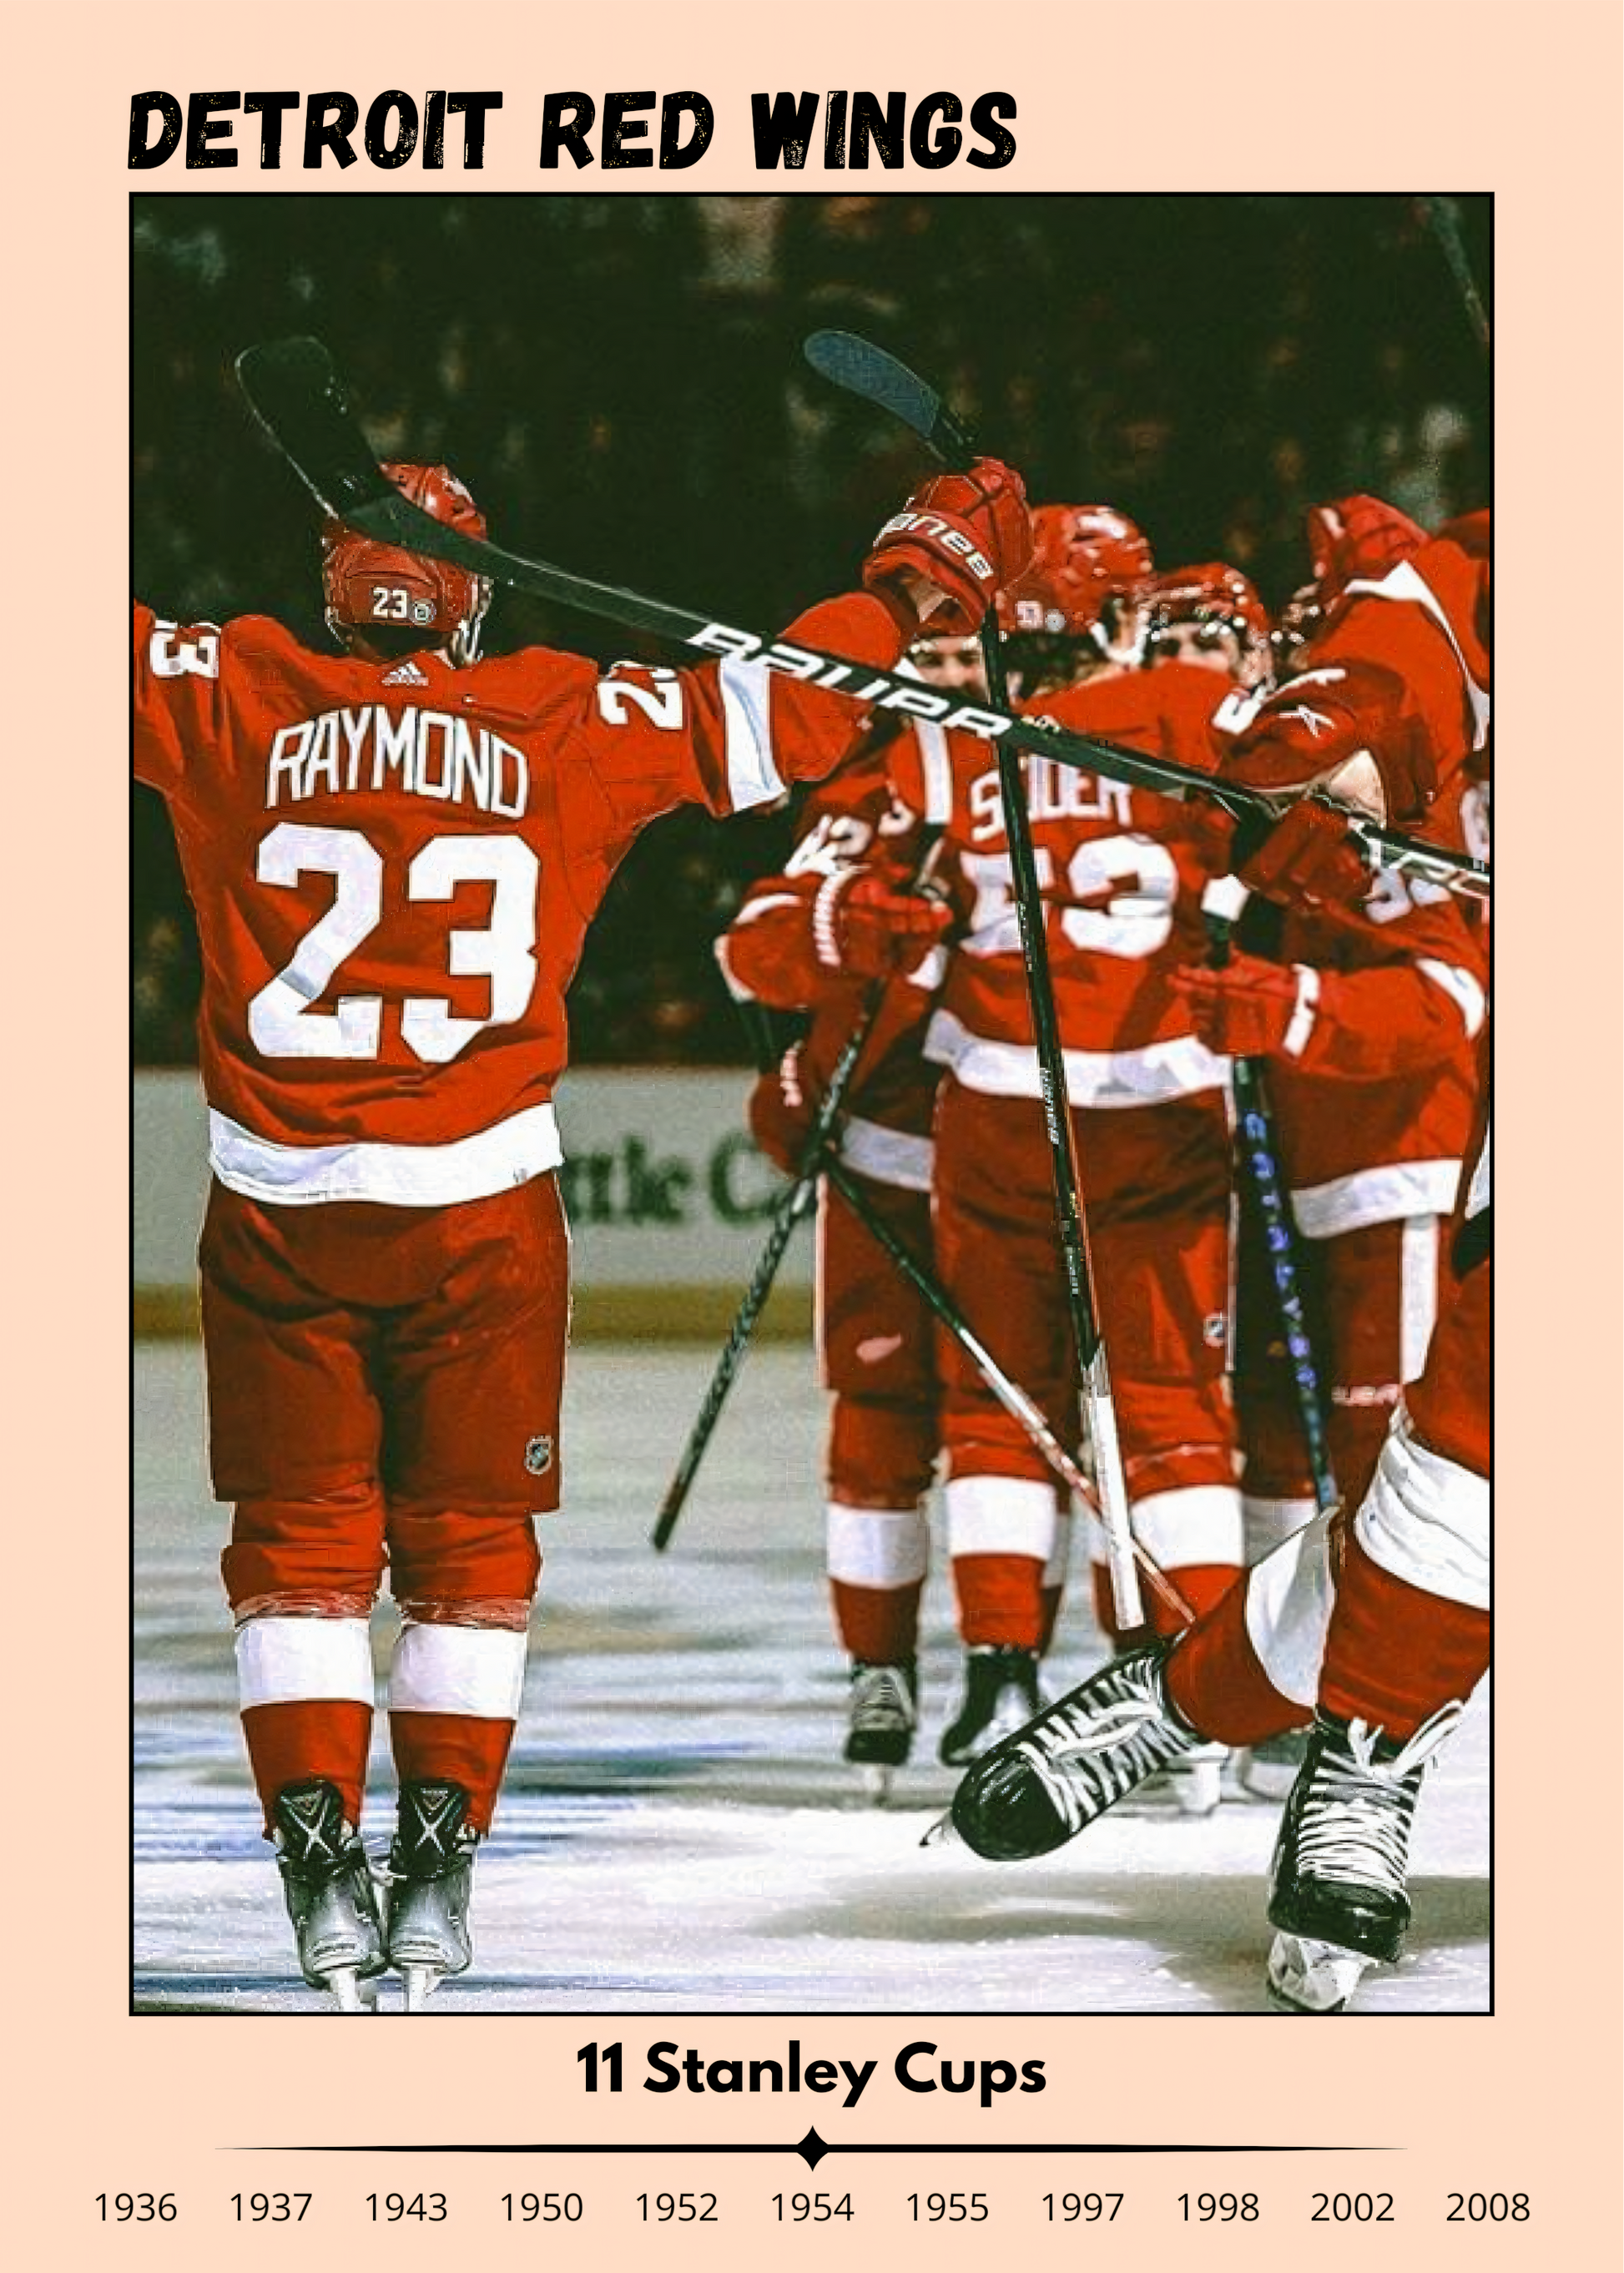
[{"label": "white ice rink surface beneath the players' skates", "polygon": [[[1044,1862],[919,1841],[953,1775],[946,1557],[926,1589],[923,1730],[892,1802],[839,1759],[846,1673],[821,1577],[823,1400],[803,1348],[751,1352],[666,1555],[648,1546],[698,1409],[703,1346],[571,1359],[564,1514],[496,1834],[475,1971],[439,2012],[1265,2012],[1276,1809],[1117,1809]],[[218,1591],[189,1343],[136,1352],[134,2009],[325,2012],[293,1962],[259,1839]],[[387,1648],[391,1612],[375,1618]],[[1046,1666],[1101,1657],[1087,1575]],[[1417,1816],[1415,1930],[1360,2012],[1488,2012],[1488,1705]],[[391,1818],[382,1725],[362,1825]],[[384,2007],[398,2007],[398,1987]]]}]

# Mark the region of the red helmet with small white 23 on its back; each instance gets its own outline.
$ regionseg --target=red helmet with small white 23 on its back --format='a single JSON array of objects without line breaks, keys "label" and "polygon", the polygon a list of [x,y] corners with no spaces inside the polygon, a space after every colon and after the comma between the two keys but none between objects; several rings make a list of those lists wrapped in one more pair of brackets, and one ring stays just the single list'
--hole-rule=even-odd
[{"label": "red helmet with small white 23 on its back", "polygon": [[[384,473],[434,521],[484,536],[484,514],[448,466],[384,466]],[[375,661],[446,648],[453,664],[471,664],[491,605],[489,577],[425,552],[380,546],[341,521],[328,521],[321,532],[321,591],[339,646]]]}]

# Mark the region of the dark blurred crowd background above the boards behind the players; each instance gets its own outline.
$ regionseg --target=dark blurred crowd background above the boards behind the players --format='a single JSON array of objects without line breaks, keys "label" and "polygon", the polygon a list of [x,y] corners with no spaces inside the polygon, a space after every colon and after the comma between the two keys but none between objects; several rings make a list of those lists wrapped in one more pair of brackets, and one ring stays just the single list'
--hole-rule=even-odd
[{"label": "dark blurred crowd background above the boards behind the players", "polygon": [[[1460,198],[1478,289],[1492,200]],[[380,457],[444,459],[491,534],[773,632],[853,584],[926,471],[801,361],[819,325],[928,375],[1033,500],[1130,514],[1160,566],[1226,559],[1278,607],[1303,509],[1422,525],[1490,498],[1490,384],[1399,195],[132,198],[132,568],[161,614],[325,643],[314,509],[232,377],[316,332]],[[498,591],[487,652],[671,659]],[[689,657],[691,659],[691,657]],[[575,1061],[746,1055],[710,943],[787,818],[657,823],[571,991]],[[132,816],[132,1027],[191,1057],[196,941],[161,802]]]}]

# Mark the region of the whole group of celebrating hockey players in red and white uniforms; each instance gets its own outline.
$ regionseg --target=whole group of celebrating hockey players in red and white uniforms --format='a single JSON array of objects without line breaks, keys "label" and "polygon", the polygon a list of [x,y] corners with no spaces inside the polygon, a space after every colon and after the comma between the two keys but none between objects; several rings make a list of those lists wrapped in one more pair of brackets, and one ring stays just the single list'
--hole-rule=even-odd
[{"label": "whole group of celebrating hockey players in red and white uniforms", "polygon": [[[455,473],[384,471],[480,557]],[[491,582],[432,541],[328,518],[334,652],[136,605],[136,775],[168,800],[205,964],[243,1739],[305,1980],[346,2009],[389,1971],[421,2007],[473,1955],[564,1475],[553,1093],[587,927],[660,814],[796,796],[794,850],[719,957],[792,1021],[755,1139],[821,1177],[851,1668],[830,1741],[885,1798],[928,1727],[962,1771],[942,1837],[992,1862],[1151,1777],[1180,1816],[1283,1802],[1274,2000],[1340,2012],[1401,1955],[1417,1796],[1488,1671],[1488,939],[1478,902],[1372,871],[1356,827],[1481,850],[1488,514],[1428,534],[1365,496],[1317,507],[1278,627],[1235,568],[1169,568],[1153,539],[983,457],[785,632],[992,711],[1008,675],[1021,721],[1064,730],[1021,757],[1037,907],[987,734],[751,657],[484,659]],[[1137,786],[1112,746],[1212,796]],[[1058,1150],[1105,1409],[1080,1396]],[[953,1698],[919,1680],[937,1480]],[[1053,1696],[1076,1627],[1105,1664]],[[910,1868],[930,1855],[903,1848]]]}]

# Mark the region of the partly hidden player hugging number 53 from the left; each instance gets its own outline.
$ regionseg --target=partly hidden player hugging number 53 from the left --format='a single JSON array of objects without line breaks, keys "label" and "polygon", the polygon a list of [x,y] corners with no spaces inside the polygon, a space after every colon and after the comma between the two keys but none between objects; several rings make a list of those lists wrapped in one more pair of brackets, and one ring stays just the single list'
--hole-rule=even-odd
[{"label": "partly hidden player hugging number 53 from the left", "polygon": [[[919,1055],[946,909],[910,891],[921,830],[885,777],[883,725],[801,814],[780,875],[744,898],[719,957],[735,993],[805,1011],[807,1030],[751,1096],[751,1130],[787,1175],[871,989],[876,1025],[851,1077],[839,1155],[876,1214],[930,1262],[930,1111]],[[919,980],[919,984],[914,984]],[[933,1318],[846,1200],[817,1207],[817,1352],[830,1391],[826,1571],[851,1664],[846,1759],[876,1798],[912,1752],[919,1598],[930,1566],[926,1493],[937,1462]]]}]

